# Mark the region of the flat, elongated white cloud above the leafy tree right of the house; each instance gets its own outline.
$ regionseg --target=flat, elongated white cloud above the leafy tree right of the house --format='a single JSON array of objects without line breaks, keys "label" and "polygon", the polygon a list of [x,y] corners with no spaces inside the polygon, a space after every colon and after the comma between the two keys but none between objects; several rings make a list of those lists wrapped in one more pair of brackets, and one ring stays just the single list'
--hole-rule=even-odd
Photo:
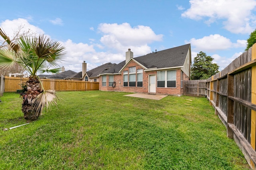
[{"label": "flat, elongated white cloud above the leafy tree right of the house", "polygon": [[217,50],[227,50],[230,48],[246,47],[246,40],[237,40],[236,43],[232,43],[230,39],[223,37],[219,34],[205,36],[200,39],[192,38],[186,43],[191,43],[192,47],[196,51],[213,52]]}]

